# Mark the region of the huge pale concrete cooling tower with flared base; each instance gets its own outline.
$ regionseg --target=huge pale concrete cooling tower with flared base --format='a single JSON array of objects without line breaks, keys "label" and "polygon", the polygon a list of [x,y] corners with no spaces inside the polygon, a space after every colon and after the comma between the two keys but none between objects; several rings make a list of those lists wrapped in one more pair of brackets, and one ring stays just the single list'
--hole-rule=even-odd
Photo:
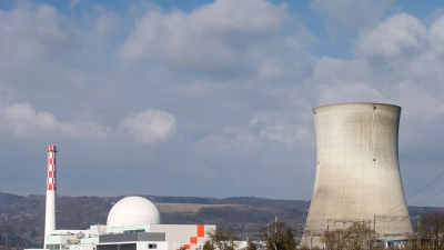
[{"label": "huge pale concrete cooling tower with flared base", "polygon": [[381,239],[413,233],[401,182],[401,107],[344,103],[313,109],[316,176],[302,244],[322,247],[326,230],[364,222]]}]

